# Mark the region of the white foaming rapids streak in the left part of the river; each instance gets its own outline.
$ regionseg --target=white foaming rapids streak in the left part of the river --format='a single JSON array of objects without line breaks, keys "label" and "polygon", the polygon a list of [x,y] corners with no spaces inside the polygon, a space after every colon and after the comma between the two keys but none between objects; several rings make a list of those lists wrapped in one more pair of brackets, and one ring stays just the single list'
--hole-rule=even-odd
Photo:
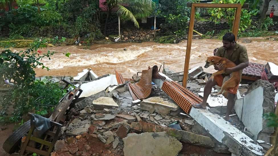
[{"label": "white foaming rapids streak in the left part of the river", "polygon": [[[138,47],[132,45],[128,47],[126,51],[123,51],[122,49],[111,48],[85,50],[71,46],[66,50],[68,50],[69,53],[71,53],[71,51],[78,51],[78,53],[72,53],[69,57],[66,57],[63,53],[56,53],[51,60],[44,58],[42,63],[50,69],[64,68],[65,66],[94,65],[104,62],[121,63],[136,59],[138,55],[151,51],[152,47]],[[38,68],[40,68],[40,66],[38,66]]]}]

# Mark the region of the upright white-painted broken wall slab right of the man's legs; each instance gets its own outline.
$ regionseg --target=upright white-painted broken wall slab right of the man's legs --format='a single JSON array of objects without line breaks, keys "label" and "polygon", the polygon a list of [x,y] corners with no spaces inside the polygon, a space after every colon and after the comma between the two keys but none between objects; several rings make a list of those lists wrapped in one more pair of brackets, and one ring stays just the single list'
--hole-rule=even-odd
[{"label": "upright white-painted broken wall slab right of the man's legs", "polygon": [[243,124],[254,135],[253,140],[270,142],[273,127],[268,127],[263,114],[274,112],[274,88],[268,81],[257,80],[250,85],[245,96],[237,99],[235,111]]}]

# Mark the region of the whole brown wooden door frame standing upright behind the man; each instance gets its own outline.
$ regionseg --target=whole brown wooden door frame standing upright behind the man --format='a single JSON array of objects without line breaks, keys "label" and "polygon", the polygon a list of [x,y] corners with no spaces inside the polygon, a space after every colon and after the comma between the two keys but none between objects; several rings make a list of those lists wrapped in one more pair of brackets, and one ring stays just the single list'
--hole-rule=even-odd
[{"label": "whole brown wooden door frame standing upright behind the man", "polygon": [[193,27],[194,27],[194,19],[195,19],[195,8],[198,7],[199,8],[236,8],[232,32],[237,39],[241,9],[248,8],[249,4],[244,4],[242,6],[241,4],[187,3],[187,7],[191,7],[191,14],[190,14],[186,55],[185,55],[184,70],[183,70],[183,87],[186,87],[187,85],[190,51],[191,51],[191,43],[192,43]]}]

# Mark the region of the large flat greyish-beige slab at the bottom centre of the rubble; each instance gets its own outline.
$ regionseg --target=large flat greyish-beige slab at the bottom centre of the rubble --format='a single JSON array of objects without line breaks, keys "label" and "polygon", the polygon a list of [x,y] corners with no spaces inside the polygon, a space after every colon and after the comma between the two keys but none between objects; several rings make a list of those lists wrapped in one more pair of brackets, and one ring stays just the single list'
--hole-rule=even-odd
[{"label": "large flat greyish-beige slab at the bottom centre of the rubble", "polygon": [[166,132],[132,133],[123,141],[125,156],[176,156],[182,149],[181,142]]}]

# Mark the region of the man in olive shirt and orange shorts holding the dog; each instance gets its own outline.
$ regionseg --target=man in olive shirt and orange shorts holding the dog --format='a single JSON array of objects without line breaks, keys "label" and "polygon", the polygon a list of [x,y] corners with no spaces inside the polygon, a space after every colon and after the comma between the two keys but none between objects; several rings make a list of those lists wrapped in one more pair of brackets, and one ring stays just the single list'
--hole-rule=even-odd
[{"label": "man in olive shirt and orange shorts holding the dog", "polygon": [[[207,81],[207,84],[205,86],[203,102],[197,105],[193,105],[193,107],[195,108],[206,109],[207,99],[209,97],[209,94],[211,93],[212,87],[215,85],[222,86],[222,84],[230,78],[229,75],[232,72],[238,70],[240,71],[240,80],[241,80],[242,69],[246,68],[249,65],[246,47],[236,43],[234,34],[226,33],[222,38],[222,42],[223,42],[223,46],[218,48],[216,56],[225,57],[230,61],[234,62],[237,66],[233,68],[226,68],[226,73],[215,75],[213,81],[210,78]],[[215,70],[222,70],[223,68],[224,65],[222,63],[218,63],[214,66]],[[230,89],[227,95],[228,103],[227,103],[227,112],[226,112],[225,120],[231,123],[232,121],[229,115],[232,113],[232,109],[235,104],[237,89],[238,86]]]}]

